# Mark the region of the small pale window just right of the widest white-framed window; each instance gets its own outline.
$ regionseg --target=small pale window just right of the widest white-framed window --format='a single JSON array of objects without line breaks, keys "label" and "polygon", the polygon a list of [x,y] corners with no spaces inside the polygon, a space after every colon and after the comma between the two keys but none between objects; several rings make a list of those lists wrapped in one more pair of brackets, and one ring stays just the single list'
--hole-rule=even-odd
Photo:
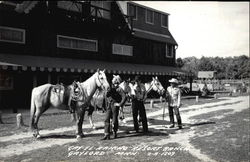
[{"label": "small pale window just right of the widest white-framed window", "polygon": [[133,47],[122,44],[113,44],[113,54],[133,56]]}]

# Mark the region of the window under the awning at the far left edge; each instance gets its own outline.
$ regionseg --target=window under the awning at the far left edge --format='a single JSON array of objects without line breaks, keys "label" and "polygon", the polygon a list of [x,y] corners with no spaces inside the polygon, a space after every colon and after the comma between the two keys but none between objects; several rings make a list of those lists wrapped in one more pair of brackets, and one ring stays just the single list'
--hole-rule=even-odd
[{"label": "window under the awning at the far left edge", "polygon": [[12,90],[13,89],[13,77],[7,73],[1,72],[0,75],[0,90]]}]

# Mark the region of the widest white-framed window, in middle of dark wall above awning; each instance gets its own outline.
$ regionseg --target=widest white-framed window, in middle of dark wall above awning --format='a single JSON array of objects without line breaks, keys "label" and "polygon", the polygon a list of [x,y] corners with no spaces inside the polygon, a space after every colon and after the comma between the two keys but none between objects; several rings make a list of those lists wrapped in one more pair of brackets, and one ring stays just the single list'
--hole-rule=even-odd
[{"label": "widest white-framed window, in middle of dark wall above awning", "polygon": [[86,51],[98,51],[98,41],[57,35],[57,47]]}]

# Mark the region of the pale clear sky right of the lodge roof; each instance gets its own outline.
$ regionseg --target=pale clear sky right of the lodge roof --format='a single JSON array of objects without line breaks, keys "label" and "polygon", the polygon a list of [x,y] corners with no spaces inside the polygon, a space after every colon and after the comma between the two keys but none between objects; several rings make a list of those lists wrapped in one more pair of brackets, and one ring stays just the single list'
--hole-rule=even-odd
[{"label": "pale clear sky right of the lodge roof", "polygon": [[170,14],[176,58],[249,56],[249,2],[136,3]]}]

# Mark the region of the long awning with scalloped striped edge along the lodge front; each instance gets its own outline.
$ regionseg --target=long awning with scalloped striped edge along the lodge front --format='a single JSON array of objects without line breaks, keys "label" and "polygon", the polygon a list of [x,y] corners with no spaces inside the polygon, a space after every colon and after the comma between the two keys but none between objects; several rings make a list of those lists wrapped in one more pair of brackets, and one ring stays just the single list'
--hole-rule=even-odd
[{"label": "long awning with scalloped striped edge along the lodge front", "polygon": [[0,54],[0,69],[3,70],[93,73],[98,68],[116,74],[192,76],[190,73],[170,66]]}]

